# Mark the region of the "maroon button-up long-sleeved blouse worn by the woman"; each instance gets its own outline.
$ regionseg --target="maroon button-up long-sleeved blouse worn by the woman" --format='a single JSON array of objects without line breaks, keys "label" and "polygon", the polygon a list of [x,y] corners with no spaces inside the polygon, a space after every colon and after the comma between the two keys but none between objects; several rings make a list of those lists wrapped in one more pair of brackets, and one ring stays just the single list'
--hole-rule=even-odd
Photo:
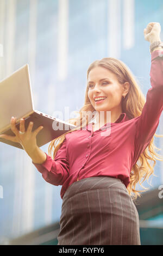
[{"label": "maroon button-up long-sleeved blouse worn by the woman", "polygon": [[[127,187],[130,171],[156,132],[163,109],[163,51],[151,54],[151,71],[146,103],[140,117],[129,119],[122,113],[115,123],[107,123],[93,132],[92,123],[85,130],[67,133],[53,160],[47,154],[42,164],[35,164],[47,182],[61,187],[61,198],[77,179],[111,176]],[[110,127],[110,130],[109,130]],[[108,136],[106,132],[108,131]],[[105,136],[103,136],[105,132]]]}]

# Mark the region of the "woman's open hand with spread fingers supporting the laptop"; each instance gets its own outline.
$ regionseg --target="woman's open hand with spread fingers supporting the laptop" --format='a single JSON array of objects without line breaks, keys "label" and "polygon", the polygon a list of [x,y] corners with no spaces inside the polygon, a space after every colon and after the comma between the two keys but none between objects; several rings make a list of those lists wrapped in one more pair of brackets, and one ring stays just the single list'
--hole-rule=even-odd
[{"label": "woman's open hand with spread fingers supporting the laptop", "polygon": [[9,141],[12,141],[12,142],[18,142],[22,145],[23,149],[26,150],[28,153],[32,152],[35,149],[35,147],[37,147],[36,136],[39,133],[39,131],[42,130],[43,126],[39,126],[37,129],[35,129],[32,132],[33,122],[30,122],[26,131],[25,125],[24,125],[25,120],[21,119],[20,131],[18,131],[15,123],[16,123],[16,118],[12,117],[10,120],[10,124],[11,124],[11,130],[12,132],[14,132],[15,136],[2,134],[0,135],[0,138],[8,139]]}]

